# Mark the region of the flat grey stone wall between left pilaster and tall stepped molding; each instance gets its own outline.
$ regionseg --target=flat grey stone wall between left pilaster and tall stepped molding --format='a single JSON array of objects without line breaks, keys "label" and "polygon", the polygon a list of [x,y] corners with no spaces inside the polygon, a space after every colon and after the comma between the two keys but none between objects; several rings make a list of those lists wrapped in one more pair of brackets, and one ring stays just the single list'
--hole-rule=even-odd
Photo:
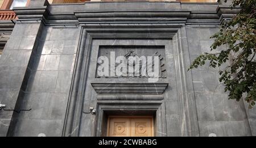
[{"label": "flat grey stone wall between left pilaster and tall stepped molding", "polygon": [[[40,31],[36,49],[33,49],[35,52],[30,55],[26,86],[23,83],[20,92],[22,103],[19,108],[32,108],[32,111],[14,115],[9,136],[37,136],[39,133],[61,136],[79,28],[44,26]],[[15,58],[22,60],[24,56],[20,53]],[[31,127],[34,128],[31,130]]]}]

